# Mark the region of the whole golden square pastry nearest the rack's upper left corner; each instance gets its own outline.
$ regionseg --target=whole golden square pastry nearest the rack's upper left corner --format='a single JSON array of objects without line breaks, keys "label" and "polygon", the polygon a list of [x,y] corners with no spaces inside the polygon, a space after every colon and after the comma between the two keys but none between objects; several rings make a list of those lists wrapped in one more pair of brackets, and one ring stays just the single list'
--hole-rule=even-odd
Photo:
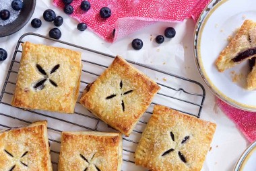
[{"label": "whole golden square pastry nearest the rack's upper left corner", "polygon": [[81,54],[26,42],[11,105],[73,113],[82,71]]}]

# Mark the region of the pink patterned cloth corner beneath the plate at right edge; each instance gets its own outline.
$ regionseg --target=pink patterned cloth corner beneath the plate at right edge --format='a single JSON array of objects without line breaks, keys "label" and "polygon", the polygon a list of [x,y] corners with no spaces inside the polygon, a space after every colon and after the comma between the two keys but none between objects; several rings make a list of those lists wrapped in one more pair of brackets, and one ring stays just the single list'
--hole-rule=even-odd
[{"label": "pink patterned cloth corner beneath the plate at right edge", "polygon": [[220,99],[216,99],[220,109],[236,123],[238,129],[247,137],[250,142],[256,140],[256,113],[236,109]]}]

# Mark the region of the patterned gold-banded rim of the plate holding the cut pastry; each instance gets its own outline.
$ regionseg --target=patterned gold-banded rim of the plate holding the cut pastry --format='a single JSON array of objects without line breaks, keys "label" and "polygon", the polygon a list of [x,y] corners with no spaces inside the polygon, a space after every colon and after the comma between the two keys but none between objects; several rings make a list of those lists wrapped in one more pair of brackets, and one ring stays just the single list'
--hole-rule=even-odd
[{"label": "patterned gold-banded rim of the plate holding the cut pastry", "polygon": [[[214,11],[218,7],[220,7],[222,4],[226,3],[227,1],[229,1],[229,0],[211,0],[206,5],[206,7],[203,9],[201,15],[199,15],[199,19],[197,20],[197,23],[195,25],[194,34],[193,34],[193,45],[194,45],[193,54],[194,54],[195,64],[197,66],[197,70],[199,71],[201,77],[203,78],[203,81],[205,82],[205,84],[207,84],[207,87],[209,87],[209,89],[212,91],[212,93],[214,93],[214,95],[216,95],[216,97],[218,97],[219,99],[221,99],[228,105],[231,105],[232,107],[235,107],[237,109],[255,112],[256,106],[238,103],[237,101],[234,101],[234,99],[231,99],[230,97],[226,97],[226,95],[224,95],[222,92],[220,92],[217,89],[217,87],[215,87],[215,85],[212,83],[210,78],[207,78],[207,74],[205,75],[203,73],[203,67],[200,65],[200,59],[199,59],[199,55],[198,55],[197,51],[199,49],[198,44],[199,44],[199,39],[201,36],[201,32],[200,32],[201,26],[204,26],[205,22],[207,22],[207,19],[209,19],[211,14],[214,13]],[[205,21],[205,19],[206,19],[206,21]]]}]

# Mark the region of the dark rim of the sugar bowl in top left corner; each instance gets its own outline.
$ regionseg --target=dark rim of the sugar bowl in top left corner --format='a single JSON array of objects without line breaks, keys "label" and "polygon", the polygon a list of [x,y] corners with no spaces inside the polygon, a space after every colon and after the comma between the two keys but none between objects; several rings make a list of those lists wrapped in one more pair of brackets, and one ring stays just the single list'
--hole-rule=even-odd
[{"label": "dark rim of the sugar bowl in top left corner", "polygon": [[24,27],[24,25],[26,25],[26,23],[28,23],[32,17],[36,7],[36,0],[23,0],[23,3],[24,8],[22,11],[20,11],[18,18],[15,19],[12,23],[0,26],[0,38],[18,32],[22,29],[22,27]]}]

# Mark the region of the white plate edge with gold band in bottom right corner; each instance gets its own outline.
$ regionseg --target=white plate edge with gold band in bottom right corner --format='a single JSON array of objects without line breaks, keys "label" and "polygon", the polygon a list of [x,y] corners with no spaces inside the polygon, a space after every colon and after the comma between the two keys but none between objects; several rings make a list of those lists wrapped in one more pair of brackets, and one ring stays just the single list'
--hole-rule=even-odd
[{"label": "white plate edge with gold band in bottom right corner", "polygon": [[256,141],[245,150],[236,163],[234,171],[255,171],[256,168]]}]

